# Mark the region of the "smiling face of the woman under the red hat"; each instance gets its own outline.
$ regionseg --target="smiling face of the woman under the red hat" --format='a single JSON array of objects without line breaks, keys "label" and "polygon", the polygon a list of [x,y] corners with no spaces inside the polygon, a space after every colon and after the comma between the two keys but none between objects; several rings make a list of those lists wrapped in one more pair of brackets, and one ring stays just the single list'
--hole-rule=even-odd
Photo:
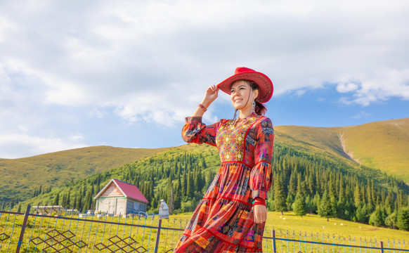
[{"label": "smiling face of the woman under the red hat", "polygon": [[257,98],[258,93],[257,89],[252,91],[250,85],[243,80],[234,82],[231,85],[231,103],[235,109],[246,110],[252,107],[252,102]]}]

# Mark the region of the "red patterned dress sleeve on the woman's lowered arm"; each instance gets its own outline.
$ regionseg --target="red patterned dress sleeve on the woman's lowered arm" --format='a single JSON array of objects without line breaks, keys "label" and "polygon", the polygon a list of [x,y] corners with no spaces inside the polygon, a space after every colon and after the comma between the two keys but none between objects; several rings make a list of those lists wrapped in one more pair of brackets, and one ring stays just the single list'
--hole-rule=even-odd
[{"label": "red patterned dress sleeve on the woman's lowered arm", "polygon": [[273,158],[274,130],[268,117],[257,124],[257,142],[254,147],[254,167],[250,173],[252,197],[266,199],[273,177],[271,160]]}]

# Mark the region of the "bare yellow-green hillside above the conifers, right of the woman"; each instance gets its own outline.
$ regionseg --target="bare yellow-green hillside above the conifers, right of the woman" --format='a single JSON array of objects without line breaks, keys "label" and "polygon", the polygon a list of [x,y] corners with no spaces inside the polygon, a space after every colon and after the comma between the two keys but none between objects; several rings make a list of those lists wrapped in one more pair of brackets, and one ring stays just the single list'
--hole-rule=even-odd
[{"label": "bare yellow-green hillside above the conifers, right of the woman", "polygon": [[354,160],[409,183],[409,118],[358,126],[275,126],[283,143]]}]

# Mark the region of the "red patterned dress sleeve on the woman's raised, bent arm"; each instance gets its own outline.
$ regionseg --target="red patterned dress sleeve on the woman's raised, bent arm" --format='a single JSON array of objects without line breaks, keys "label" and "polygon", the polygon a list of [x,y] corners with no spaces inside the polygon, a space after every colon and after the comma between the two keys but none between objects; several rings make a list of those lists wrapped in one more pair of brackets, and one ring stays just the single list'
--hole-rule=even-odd
[{"label": "red patterned dress sleeve on the woman's raised, bent arm", "polygon": [[202,123],[202,117],[186,117],[186,124],[182,129],[183,141],[216,146],[216,133],[220,124],[221,122],[216,122],[206,126]]}]

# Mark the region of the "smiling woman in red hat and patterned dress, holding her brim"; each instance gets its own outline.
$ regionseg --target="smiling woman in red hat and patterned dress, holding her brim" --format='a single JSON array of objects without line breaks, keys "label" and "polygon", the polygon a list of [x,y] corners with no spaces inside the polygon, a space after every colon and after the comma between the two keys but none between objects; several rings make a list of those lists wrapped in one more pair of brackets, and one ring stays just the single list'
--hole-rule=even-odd
[{"label": "smiling woman in red hat and patterned dress, holding her brim", "polygon": [[[235,115],[206,126],[202,115],[219,89],[231,95]],[[232,77],[210,86],[186,118],[183,140],[216,146],[221,167],[174,252],[262,252],[274,138],[262,103],[272,95],[273,83],[265,74],[238,67]]]}]

